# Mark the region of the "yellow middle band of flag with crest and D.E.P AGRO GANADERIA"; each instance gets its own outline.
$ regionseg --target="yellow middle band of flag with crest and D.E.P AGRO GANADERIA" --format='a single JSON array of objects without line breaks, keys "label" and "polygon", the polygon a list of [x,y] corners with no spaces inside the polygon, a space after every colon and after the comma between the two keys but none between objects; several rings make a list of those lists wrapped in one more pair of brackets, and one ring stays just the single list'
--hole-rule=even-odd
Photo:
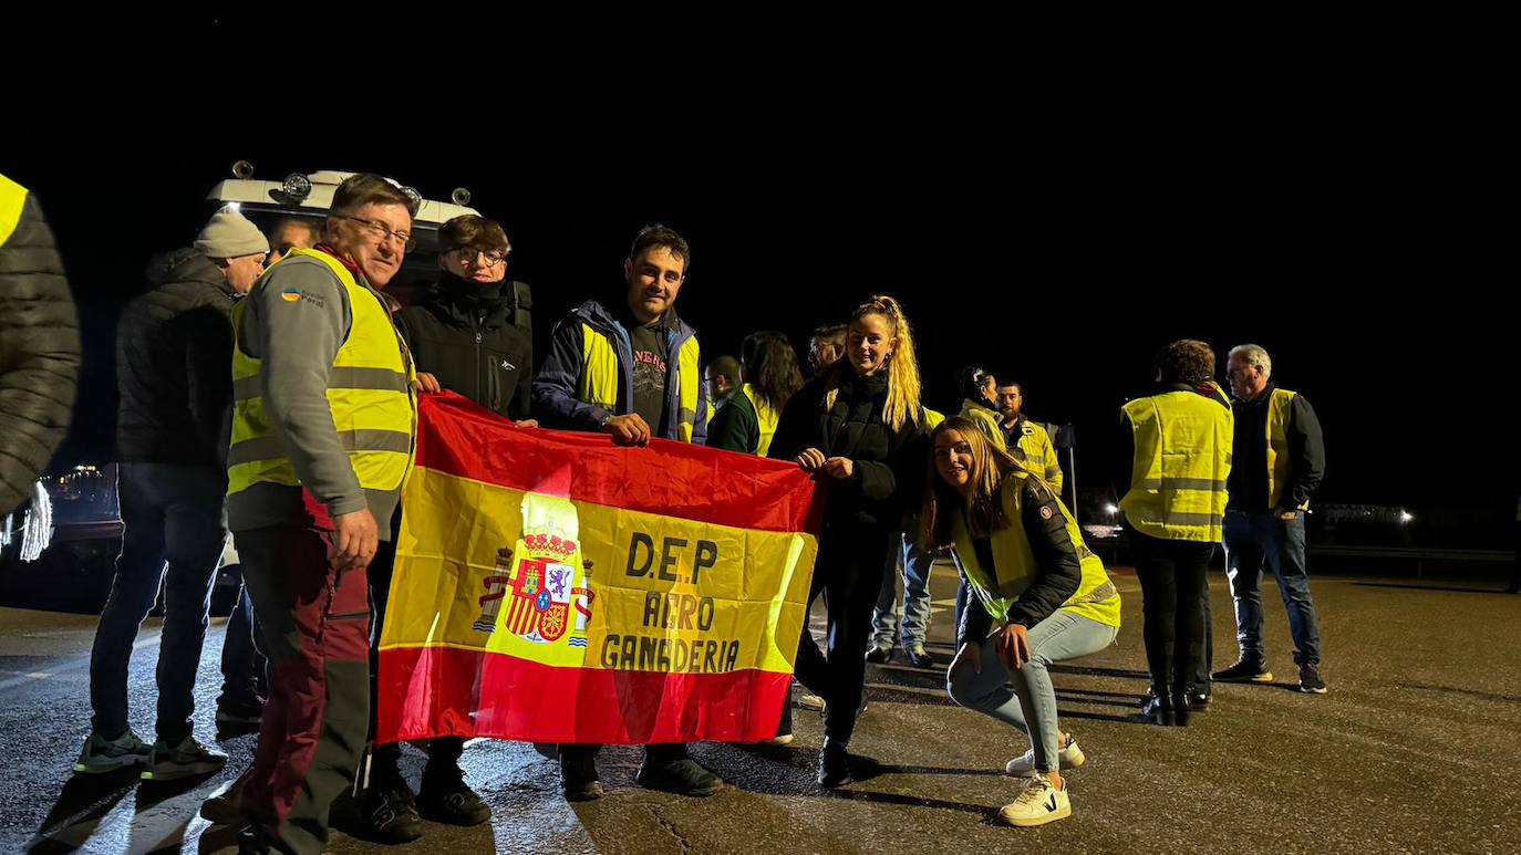
[{"label": "yellow middle band of flag with crest and D.E.P AGRO GANADERIA", "polygon": [[812,535],[572,503],[427,468],[412,472],[403,507],[382,650],[792,671]]}]

